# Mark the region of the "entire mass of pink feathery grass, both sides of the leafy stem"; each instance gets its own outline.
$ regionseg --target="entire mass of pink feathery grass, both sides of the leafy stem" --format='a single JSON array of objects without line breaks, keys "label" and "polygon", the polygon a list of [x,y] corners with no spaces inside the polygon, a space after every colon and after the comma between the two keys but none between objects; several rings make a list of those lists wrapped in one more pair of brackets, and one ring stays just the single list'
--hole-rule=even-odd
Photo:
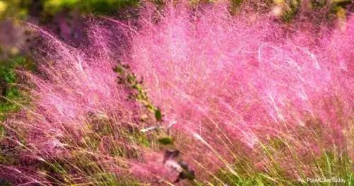
[{"label": "entire mass of pink feathery grass, both sides of the leafy stem", "polygon": [[[171,184],[176,173],[162,162],[166,148],[181,151],[195,184],[350,177],[353,16],[341,28],[296,20],[285,27],[268,14],[232,16],[215,3],[168,4],[162,11],[147,5],[138,28],[105,21],[116,28],[92,23],[89,42],[79,48],[38,30],[47,40],[37,55],[42,74],[25,74],[33,104],[6,121],[11,130],[25,130],[31,158],[70,162],[73,168],[54,171],[64,184],[125,176]],[[154,122],[142,120],[147,110],[118,84],[118,61],[143,78],[164,114],[162,125],[176,123],[175,146],[139,132]]]}]

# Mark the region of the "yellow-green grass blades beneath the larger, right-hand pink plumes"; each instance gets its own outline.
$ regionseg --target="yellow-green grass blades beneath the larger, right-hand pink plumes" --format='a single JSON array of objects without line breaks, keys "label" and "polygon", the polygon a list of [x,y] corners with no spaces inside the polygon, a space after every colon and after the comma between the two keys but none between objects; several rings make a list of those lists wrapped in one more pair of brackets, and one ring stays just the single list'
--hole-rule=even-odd
[{"label": "yellow-green grass blades beneath the larger, right-hand pink plumes", "polygon": [[[318,121],[312,120],[312,122]],[[244,158],[238,158],[238,161],[231,166],[232,171],[225,168],[215,173],[213,185],[352,185],[353,171],[350,165],[353,163],[348,151],[339,152],[336,146],[331,148],[326,146],[327,150],[323,149],[320,155],[312,153],[312,149],[309,149],[308,153],[312,153],[312,156],[304,157],[299,156],[299,152],[294,148],[298,141],[295,144],[292,144],[293,142],[278,136],[261,143],[258,156],[266,160],[265,169],[251,164],[254,160],[249,159],[251,158],[248,157],[249,155],[244,155]],[[284,165],[280,164],[287,163],[285,158],[298,161],[294,169],[299,173],[299,179],[289,175],[288,171],[292,170],[282,169]],[[306,166],[312,169],[306,170],[304,168]],[[339,178],[345,182],[309,182],[308,178]]]}]

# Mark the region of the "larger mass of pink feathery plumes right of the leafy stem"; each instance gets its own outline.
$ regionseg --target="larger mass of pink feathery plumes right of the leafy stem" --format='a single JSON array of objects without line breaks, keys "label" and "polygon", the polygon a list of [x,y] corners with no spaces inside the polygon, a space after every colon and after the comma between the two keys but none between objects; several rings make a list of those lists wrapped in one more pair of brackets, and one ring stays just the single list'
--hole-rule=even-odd
[{"label": "larger mass of pink feathery plumes right of the leafy stem", "polygon": [[[229,16],[223,4],[196,12],[170,7],[162,14],[145,15],[123,61],[145,78],[166,118],[177,122],[185,156],[206,165],[200,172],[232,165],[247,148],[275,136],[297,144],[299,152],[333,144],[350,149],[353,16],[333,32],[297,23],[299,29],[287,33],[266,15]],[[321,139],[309,132],[316,128],[324,132]],[[190,131],[210,147],[186,141]]]}]

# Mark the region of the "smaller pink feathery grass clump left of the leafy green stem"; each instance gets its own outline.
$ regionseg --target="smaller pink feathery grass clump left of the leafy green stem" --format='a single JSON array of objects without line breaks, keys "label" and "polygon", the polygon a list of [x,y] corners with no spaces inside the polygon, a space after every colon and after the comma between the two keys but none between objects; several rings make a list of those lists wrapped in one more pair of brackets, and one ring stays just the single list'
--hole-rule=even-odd
[{"label": "smaller pink feathery grass clump left of the leafy green stem", "polygon": [[[109,53],[104,30],[91,28],[95,30],[89,35],[91,43],[74,48],[30,26],[45,40],[34,55],[40,73],[21,72],[28,79],[33,104],[5,122],[17,143],[25,147],[19,157],[35,162],[23,171],[23,180],[30,182],[30,174],[33,179],[52,177],[36,170],[38,161],[44,165],[71,162],[74,173],[62,175],[68,182],[90,182],[91,177],[105,171],[124,172],[123,164],[127,163],[110,153],[118,148],[135,153],[135,141],[129,141],[125,133],[137,130],[141,111],[137,103],[128,100],[126,88],[118,86],[113,71],[117,59]],[[97,170],[87,173],[83,168],[86,164]],[[101,166],[104,168],[98,168]]]}]

